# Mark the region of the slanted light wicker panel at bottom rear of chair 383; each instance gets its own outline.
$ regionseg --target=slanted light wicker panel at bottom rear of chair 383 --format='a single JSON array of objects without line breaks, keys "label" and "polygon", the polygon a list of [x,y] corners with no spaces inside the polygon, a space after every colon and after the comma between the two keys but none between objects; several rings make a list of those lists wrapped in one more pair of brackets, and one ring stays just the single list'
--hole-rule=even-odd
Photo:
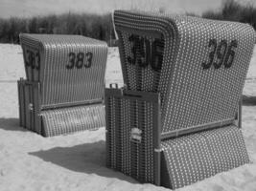
[{"label": "slanted light wicker panel at bottom rear of chair 383", "polygon": [[45,137],[94,130],[105,126],[103,104],[46,110],[40,113]]}]

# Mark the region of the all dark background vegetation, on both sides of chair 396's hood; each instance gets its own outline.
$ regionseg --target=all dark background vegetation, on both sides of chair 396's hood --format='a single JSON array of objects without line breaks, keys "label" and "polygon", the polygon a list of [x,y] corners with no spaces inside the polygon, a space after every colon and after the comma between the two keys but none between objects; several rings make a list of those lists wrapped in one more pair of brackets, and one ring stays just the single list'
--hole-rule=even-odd
[{"label": "all dark background vegetation, on both sides of chair 396's hood", "polygon": [[[196,15],[188,13],[189,15]],[[197,15],[196,15],[197,16]],[[225,0],[219,11],[205,11],[204,18],[238,21],[250,24],[256,30],[256,8],[235,0]],[[114,39],[111,14],[65,13],[32,18],[0,19],[0,42],[19,43],[20,32],[81,34],[109,42]]]}]

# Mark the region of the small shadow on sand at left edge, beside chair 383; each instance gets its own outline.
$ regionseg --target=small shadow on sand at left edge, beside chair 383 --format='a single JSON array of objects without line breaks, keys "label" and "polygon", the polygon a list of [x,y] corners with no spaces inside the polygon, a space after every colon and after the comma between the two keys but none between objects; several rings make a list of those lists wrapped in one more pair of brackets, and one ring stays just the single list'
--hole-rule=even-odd
[{"label": "small shadow on sand at left edge, beside chair 383", "polygon": [[0,129],[8,131],[27,131],[26,129],[19,126],[18,118],[0,118]]}]

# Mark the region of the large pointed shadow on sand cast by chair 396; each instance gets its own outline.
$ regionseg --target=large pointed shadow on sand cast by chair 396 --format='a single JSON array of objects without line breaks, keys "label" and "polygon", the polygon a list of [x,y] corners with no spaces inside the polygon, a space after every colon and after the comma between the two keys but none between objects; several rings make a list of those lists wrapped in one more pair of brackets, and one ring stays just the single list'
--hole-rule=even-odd
[{"label": "large pointed shadow on sand cast by chair 396", "polygon": [[47,151],[38,151],[29,154],[72,171],[97,174],[102,177],[137,183],[136,180],[122,173],[106,168],[104,140],[73,147],[56,147]]}]

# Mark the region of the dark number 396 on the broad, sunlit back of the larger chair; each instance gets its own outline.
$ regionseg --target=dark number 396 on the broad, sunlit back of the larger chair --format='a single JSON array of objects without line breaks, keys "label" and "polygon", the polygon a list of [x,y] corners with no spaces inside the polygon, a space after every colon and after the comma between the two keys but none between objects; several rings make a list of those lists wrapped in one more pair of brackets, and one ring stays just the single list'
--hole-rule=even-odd
[{"label": "dark number 396 on the broad, sunlit back of the larger chair", "polygon": [[[237,40],[232,40],[230,44],[227,44],[226,40],[221,40],[218,44],[216,39],[211,39],[208,44],[208,48],[212,51],[209,53],[208,61],[202,62],[203,69],[209,69],[213,65],[215,69],[220,69],[222,65],[228,69],[232,66],[235,58],[235,49],[238,47]],[[216,60],[214,62],[214,60]]]}]

